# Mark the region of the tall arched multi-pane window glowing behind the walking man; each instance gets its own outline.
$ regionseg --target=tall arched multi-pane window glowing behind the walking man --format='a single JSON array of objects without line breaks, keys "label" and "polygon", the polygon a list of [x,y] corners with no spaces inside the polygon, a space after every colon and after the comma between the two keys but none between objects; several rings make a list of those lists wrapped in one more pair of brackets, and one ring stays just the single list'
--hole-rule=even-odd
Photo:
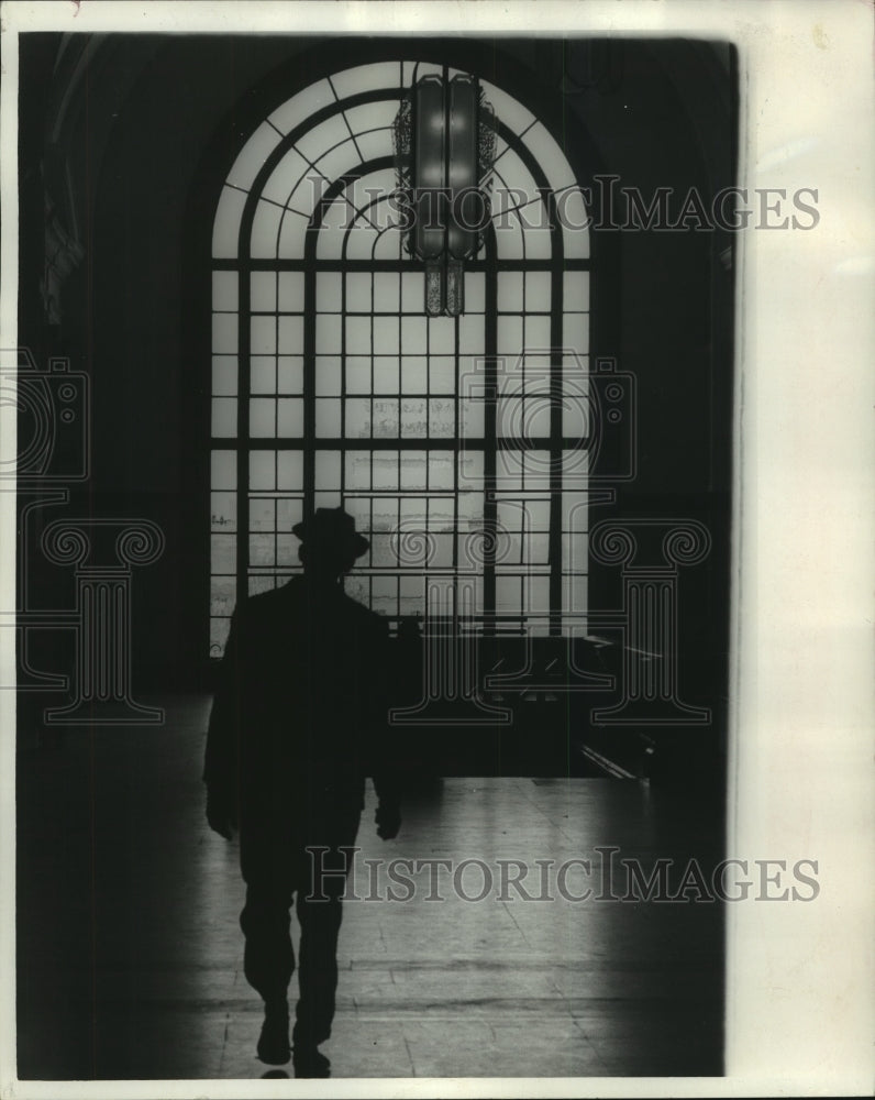
[{"label": "tall arched multi-pane window glowing behind the walking man", "polygon": [[[440,66],[319,80],[252,134],[212,242],[210,651],[234,603],[299,569],[291,526],[342,505],[370,551],[345,581],[397,622],[425,580],[469,581],[487,630],[560,634],[586,598],[589,252],[543,122],[495,113],[492,218],[465,309],[429,317],[408,254],[392,124]],[[453,69],[444,70],[453,76]]]}]

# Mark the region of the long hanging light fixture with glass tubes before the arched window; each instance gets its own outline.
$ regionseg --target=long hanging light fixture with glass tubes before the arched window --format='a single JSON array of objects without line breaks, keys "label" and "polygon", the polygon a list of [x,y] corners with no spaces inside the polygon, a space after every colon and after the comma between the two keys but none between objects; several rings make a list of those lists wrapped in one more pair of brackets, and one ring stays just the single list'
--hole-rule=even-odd
[{"label": "long hanging light fixture with glass tubes before the arched window", "polygon": [[425,265],[425,312],[465,307],[465,261],[477,255],[490,216],[495,117],[479,82],[423,76],[395,121],[398,184],[411,224],[407,249]]}]

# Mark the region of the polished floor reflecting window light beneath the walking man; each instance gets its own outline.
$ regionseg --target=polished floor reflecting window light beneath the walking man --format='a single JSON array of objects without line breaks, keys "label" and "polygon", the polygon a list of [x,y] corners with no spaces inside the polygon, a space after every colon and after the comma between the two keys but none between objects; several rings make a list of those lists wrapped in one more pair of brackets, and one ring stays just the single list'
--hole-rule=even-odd
[{"label": "polished floor reflecting window light beneath the walking man", "polygon": [[[242,974],[236,847],[202,820],[208,701],[163,702],[158,728],[20,733],[21,1078],[268,1072],[255,1057],[261,1003]],[[627,886],[606,884],[598,848],[645,873],[658,858],[712,866],[719,807],[635,780],[454,778],[421,783],[398,838],[381,842],[369,799],[362,900],[345,904],[323,1047],[333,1077],[722,1071],[721,908],[595,897]],[[457,871],[455,890],[438,865],[396,864],[392,881],[399,859],[480,864]],[[589,871],[568,864],[580,859]],[[500,860],[521,862],[531,900],[502,893]],[[431,873],[441,900],[427,900]],[[573,900],[587,887],[592,897]],[[390,889],[412,897],[391,901]]]}]

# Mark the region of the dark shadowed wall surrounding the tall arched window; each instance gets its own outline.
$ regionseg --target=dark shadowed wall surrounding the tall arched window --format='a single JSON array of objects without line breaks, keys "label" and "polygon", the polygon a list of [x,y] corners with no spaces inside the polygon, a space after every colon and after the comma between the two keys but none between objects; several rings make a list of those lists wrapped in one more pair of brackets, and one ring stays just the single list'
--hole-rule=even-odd
[{"label": "dark shadowed wall surrounding the tall arched window", "polygon": [[[709,197],[734,183],[732,56],[719,45],[23,35],[21,51],[20,343],[38,358],[69,356],[91,380],[92,476],[71,510],[142,516],[166,532],[162,560],[135,578],[144,685],[191,685],[202,673],[210,226],[235,151],[273,106],[372,56],[444,57],[528,97],[583,182],[610,173],[645,198],[657,187]],[[58,165],[86,254],[64,285],[59,323],[47,324],[36,257],[43,188],[64,190]],[[639,392],[638,477],[603,515],[700,518],[716,536],[711,565],[690,571],[684,602],[686,637],[716,654],[717,689],[733,277],[719,254],[730,243],[719,231],[592,233],[591,350],[633,372]]]}]

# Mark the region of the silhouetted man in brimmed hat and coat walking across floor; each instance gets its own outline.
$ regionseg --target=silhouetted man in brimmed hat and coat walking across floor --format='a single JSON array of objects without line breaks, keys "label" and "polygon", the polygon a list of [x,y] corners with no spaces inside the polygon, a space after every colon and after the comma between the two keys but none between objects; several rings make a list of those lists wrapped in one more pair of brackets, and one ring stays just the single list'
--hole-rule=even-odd
[{"label": "silhouetted man in brimmed hat and coat walking across floor", "polygon": [[[347,869],[341,849],[355,844],[365,777],[374,778],[384,839],[398,833],[399,794],[385,748],[388,630],[340,584],[368,542],[341,508],[319,508],[292,530],[303,576],[234,612],[203,779],[210,827],[229,839],[240,827],[244,971],[265,1004],[258,1057],[277,1065],[291,1055],[296,1077],[328,1077],[329,1060],[317,1048],[334,1015],[345,886],[343,873],[330,872]],[[287,990],[296,893],[292,1055]]]}]

